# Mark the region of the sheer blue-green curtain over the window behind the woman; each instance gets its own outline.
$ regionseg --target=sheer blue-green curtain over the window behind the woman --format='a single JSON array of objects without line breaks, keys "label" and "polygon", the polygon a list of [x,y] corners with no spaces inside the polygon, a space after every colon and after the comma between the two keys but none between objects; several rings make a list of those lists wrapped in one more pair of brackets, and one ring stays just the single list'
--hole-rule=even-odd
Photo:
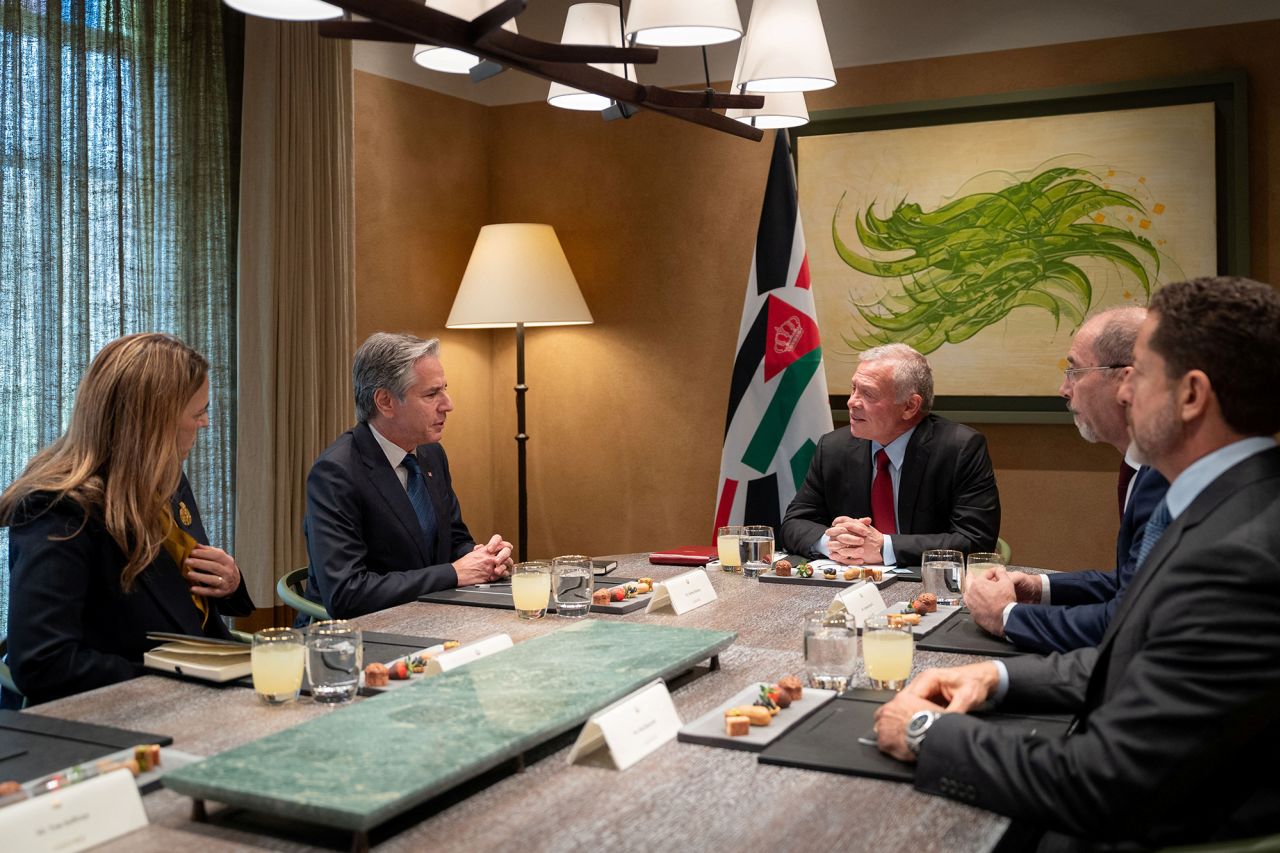
[{"label": "sheer blue-green curtain over the window behind the woman", "polygon": [[[228,99],[221,4],[3,1],[0,487],[63,430],[93,353],[120,334],[170,332],[212,365],[211,425],[187,474],[211,540],[230,548],[236,206],[228,119],[238,106]],[[232,72],[234,79],[239,68]],[[8,551],[4,532],[0,634],[8,626]]]}]

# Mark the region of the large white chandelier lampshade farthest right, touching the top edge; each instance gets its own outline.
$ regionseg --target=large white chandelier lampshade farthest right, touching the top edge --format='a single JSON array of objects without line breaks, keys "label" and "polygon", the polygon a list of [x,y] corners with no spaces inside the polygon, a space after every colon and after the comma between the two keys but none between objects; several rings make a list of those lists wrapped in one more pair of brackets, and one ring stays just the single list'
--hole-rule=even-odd
[{"label": "large white chandelier lampshade farthest right, touching the top edge", "polygon": [[818,0],[755,0],[739,56],[749,92],[810,92],[836,85]]}]

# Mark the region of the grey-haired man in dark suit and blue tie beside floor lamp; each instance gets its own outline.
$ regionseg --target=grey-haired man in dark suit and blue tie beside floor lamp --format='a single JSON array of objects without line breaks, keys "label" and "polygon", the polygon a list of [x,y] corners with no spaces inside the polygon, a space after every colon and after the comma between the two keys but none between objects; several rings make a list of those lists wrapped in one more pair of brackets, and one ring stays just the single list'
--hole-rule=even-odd
[{"label": "grey-haired man in dark suit and blue tie beside floor lamp", "polygon": [[472,540],[439,444],[453,411],[439,341],[375,333],[352,380],[360,423],[307,475],[307,598],[347,619],[507,576],[511,543]]}]

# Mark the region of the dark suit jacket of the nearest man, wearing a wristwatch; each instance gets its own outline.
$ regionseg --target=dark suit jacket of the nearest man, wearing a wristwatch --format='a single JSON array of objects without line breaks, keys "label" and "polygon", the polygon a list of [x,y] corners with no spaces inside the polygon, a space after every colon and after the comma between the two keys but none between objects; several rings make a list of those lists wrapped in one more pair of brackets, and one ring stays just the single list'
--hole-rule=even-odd
[{"label": "dark suit jacket of the nearest man, wearing a wristwatch", "polygon": [[943,715],[916,788],[1039,827],[1149,845],[1280,830],[1280,448],[1165,530],[1101,646],[1006,661],[1001,710],[1078,712],[1070,736]]}]

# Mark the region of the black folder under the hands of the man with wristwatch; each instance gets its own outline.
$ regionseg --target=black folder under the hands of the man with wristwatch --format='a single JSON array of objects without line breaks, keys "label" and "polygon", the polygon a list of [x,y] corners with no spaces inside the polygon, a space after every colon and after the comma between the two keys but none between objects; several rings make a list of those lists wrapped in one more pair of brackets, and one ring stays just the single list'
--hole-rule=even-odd
[{"label": "black folder under the hands of the man with wristwatch", "polygon": [[[910,783],[915,779],[915,765],[891,758],[873,745],[876,735],[872,725],[876,722],[876,708],[892,697],[892,693],[883,690],[845,693],[765,747],[759,761],[762,765],[826,770],[849,776]],[[1071,725],[1071,719],[1068,716],[1024,717],[997,712],[974,716],[1002,729],[1041,738],[1061,738]]]}]

